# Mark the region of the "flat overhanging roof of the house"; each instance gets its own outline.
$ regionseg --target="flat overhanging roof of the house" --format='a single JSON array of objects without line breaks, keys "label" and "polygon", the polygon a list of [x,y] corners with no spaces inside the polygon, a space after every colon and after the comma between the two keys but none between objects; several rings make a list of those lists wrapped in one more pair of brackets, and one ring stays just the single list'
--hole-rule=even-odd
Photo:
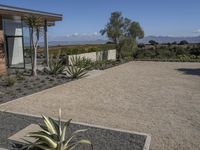
[{"label": "flat overhanging roof of the house", "polygon": [[27,15],[36,15],[40,16],[47,21],[61,21],[63,15],[45,11],[38,11],[8,5],[0,4],[0,15],[9,15],[9,16],[27,16]]}]

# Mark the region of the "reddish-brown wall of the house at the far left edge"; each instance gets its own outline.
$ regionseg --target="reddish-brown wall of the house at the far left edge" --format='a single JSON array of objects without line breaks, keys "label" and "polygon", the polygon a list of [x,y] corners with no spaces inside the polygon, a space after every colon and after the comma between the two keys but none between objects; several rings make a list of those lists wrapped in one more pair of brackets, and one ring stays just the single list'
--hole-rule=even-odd
[{"label": "reddish-brown wall of the house at the far left edge", "polygon": [[3,32],[3,21],[0,16],[0,74],[6,73],[6,61],[5,61],[5,50],[4,50],[4,32]]}]

